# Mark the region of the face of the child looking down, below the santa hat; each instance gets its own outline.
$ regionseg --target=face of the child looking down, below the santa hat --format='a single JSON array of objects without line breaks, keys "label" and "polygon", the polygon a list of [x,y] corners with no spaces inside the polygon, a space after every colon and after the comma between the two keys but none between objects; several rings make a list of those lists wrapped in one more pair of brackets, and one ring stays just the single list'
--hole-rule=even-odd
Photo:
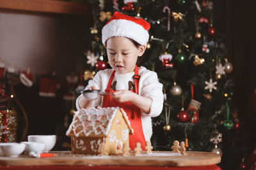
[{"label": "face of the child looking down, below the santa hat", "polygon": [[146,49],[144,45],[137,48],[130,39],[124,37],[109,38],[106,48],[110,66],[120,74],[133,72],[138,56],[143,55]]}]

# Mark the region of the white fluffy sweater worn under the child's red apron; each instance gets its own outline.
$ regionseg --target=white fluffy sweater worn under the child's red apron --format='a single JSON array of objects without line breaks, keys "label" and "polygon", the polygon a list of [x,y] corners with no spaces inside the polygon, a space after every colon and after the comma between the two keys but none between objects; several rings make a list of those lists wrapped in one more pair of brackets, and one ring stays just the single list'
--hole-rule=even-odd
[{"label": "white fluffy sweater worn under the child's red apron", "polygon": [[[93,77],[93,80],[90,80],[87,87],[85,89],[88,89],[88,87],[95,86],[99,90],[106,90],[108,87],[108,81],[113,72],[113,69],[104,69],[102,71],[99,71],[95,76]],[[118,74],[115,73],[115,77],[113,78],[113,82],[116,81],[116,90],[128,90],[129,85],[128,81],[132,81],[134,83],[134,80],[132,76],[134,75],[134,72],[132,73],[125,73],[125,74]],[[139,67],[139,75],[140,75],[140,81],[139,81],[139,89],[138,93],[140,96],[149,97],[152,99],[152,104],[150,107],[150,113],[143,113],[141,111],[141,123],[143,128],[143,133],[145,136],[146,141],[150,141],[150,138],[152,136],[152,122],[151,117],[157,117],[160,115],[161,111],[163,110],[163,85],[159,83],[157,79],[157,74],[154,71],[150,71],[146,69],[145,67]],[[112,84],[113,84],[112,82]],[[79,97],[82,97],[79,96]],[[76,101],[76,108],[79,110],[78,105],[78,99]],[[93,101],[93,106],[102,106],[103,97],[101,97],[99,100]]]}]

